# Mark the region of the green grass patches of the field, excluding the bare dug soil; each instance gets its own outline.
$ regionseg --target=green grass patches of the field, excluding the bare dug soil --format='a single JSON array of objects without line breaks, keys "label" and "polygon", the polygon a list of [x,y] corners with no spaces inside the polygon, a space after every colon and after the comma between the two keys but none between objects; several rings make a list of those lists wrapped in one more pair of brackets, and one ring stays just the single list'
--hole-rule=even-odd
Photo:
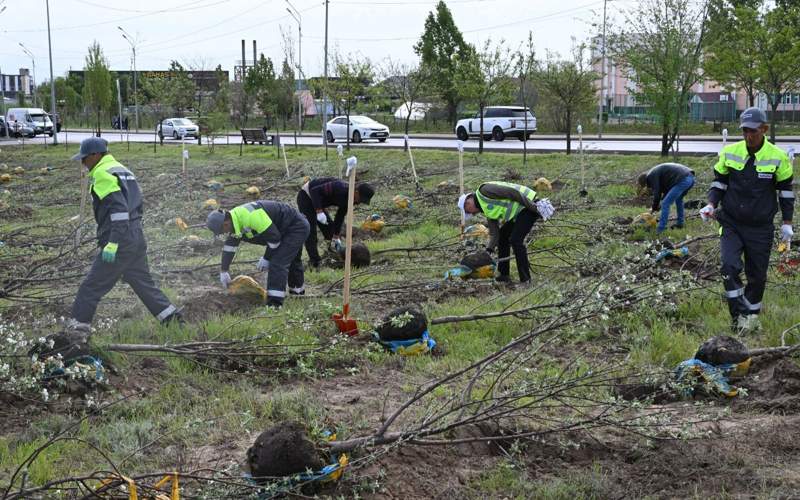
[{"label": "green grass patches of the field, excluding the bare dug soil", "polygon": [[[294,203],[303,176],[336,175],[340,168],[335,151],[330,152],[326,161],[321,149],[287,147],[293,173],[293,178],[287,181],[283,159],[276,156],[275,148],[246,148],[241,157],[238,148],[218,147],[213,154],[205,146],[190,146],[189,150],[191,199],[181,176],[180,148],[169,145],[157,148],[154,153],[152,147],[145,145],[131,145],[130,152],[124,146],[112,146],[115,157],[137,175],[142,185],[151,269],[165,292],[179,303],[218,286],[220,249],[192,253],[183,242],[187,235],[210,238],[203,227],[207,210],[202,204],[207,198],[218,199],[230,208],[246,201],[244,189],[254,184],[262,189],[262,198]],[[24,166],[29,172],[0,186],[0,200],[13,207],[29,207],[31,212],[0,219],[0,240],[7,242],[0,246],[0,283],[17,273],[27,272],[28,263],[34,259],[55,257],[57,244],[67,238],[74,227],[70,219],[77,214],[80,189],[78,167],[68,160],[70,153],[63,148],[26,146],[24,151],[4,148],[3,163],[11,167]],[[589,155],[586,158],[589,196],[581,198],[578,196],[580,160],[576,156],[532,155],[528,164],[523,165],[520,155],[466,154],[468,189],[474,189],[485,180],[502,179],[511,171],[522,177],[515,182],[524,184],[532,184],[537,177],[545,176],[561,183],[558,191],[547,194],[561,208],[551,223],[537,224],[534,230],[530,248],[536,252],[532,257],[534,281],[538,286],[535,291],[495,288],[465,293],[464,288],[458,288],[446,295],[442,292],[447,290],[447,285],[442,283],[443,273],[458,263],[464,247],[458,239],[457,194],[438,193],[436,187],[445,180],[457,183],[457,154],[414,152],[425,190],[422,195],[414,192],[404,152],[354,149],[352,154],[359,158],[364,179],[378,188],[371,205],[357,207],[355,220],[360,223],[372,213],[381,213],[388,223],[380,236],[367,240],[373,254],[398,248],[454,244],[437,250],[373,255],[377,264],[366,272],[357,271],[353,282],[353,309],[362,329],[369,329],[390,309],[409,302],[422,304],[429,318],[496,312],[548,302],[565,289],[590,285],[592,278],[581,277],[578,269],[584,265],[595,266],[601,273],[613,272],[621,263],[634,259],[639,259],[642,266],[653,266],[648,264],[646,245],[654,240],[654,235],[645,230],[629,233],[624,228],[614,228],[608,221],[616,216],[634,217],[647,210],[647,202],[641,206],[631,202],[635,195],[631,183],[637,173],[660,162],[658,157]],[[712,177],[713,161],[711,156],[685,159],[698,173],[698,185],[688,199],[704,196]],[[32,182],[38,176],[37,169],[45,164],[54,166],[55,170]],[[206,188],[204,185],[210,179],[222,182],[224,190],[214,192]],[[407,211],[395,208],[391,200],[396,194],[411,196],[413,208]],[[692,211],[687,213],[692,214]],[[87,216],[91,218],[88,212]],[[174,224],[176,217],[197,227],[180,231]],[[665,236],[675,241],[712,231],[710,226],[690,219],[685,229],[668,231]],[[85,264],[90,262],[91,223],[83,234],[87,242],[80,248],[78,258],[84,265],[70,271],[74,276],[58,282],[59,291],[74,293]],[[704,241],[692,251],[711,255],[709,265],[714,268],[718,265],[715,245],[714,240]],[[254,273],[254,264],[249,261],[256,260],[262,251],[256,246],[242,245],[233,272]],[[193,273],[176,272],[192,268],[200,269]],[[238,314],[223,312],[185,328],[158,326],[130,288],[118,285],[101,303],[97,316],[98,319],[113,318],[113,321],[104,320],[102,324],[97,321],[100,327],[93,337],[93,343],[119,372],[114,379],[117,387],[97,396],[111,400],[123,393],[141,391],[141,394],[92,417],[78,429],[76,437],[90,441],[113,460],[124,461],[124,471],[128,474],[171,470],[193,450],[201,448],[220,454],[222,463],[238,473],[244,449],[269,425],[297,420],[318,434],[333,423],[344,438],[363,434],[374,428],[376,414],[383,411],[380,407],[382,395],[387,390],[412,394],[420,383],[474,363],[546,319],[545,316],[533,319],[507,316],[435,325],[430,329],[431,334],[446,348],[444,357],[400,359],[374,344],[358,344],[346,339],[330,342],[335,326],[328,318],[341,305],[339,288],[334,287],[332,293],[323,295],[342,276],[339,269],[307,272],[307,284],[314,297],[287,300],[280,313],[263,308]],[[514,264],[512,276],[516,276]],[[377,289],[409,283],[418,283],[418,286],[412,290],[374,293]],[[672,369],[691,357],[703,340],[728,331],[728,313],[720,297],[718,278],[687,283],[686,289],[679,290],[667,304],[644,302],[625,311],[612,312],[607,318],[565,329],[553,347],[566,352],[565,359],[548,353],[534,373],[518,375],[511,380],[546,381],[556,376],[569,355],[578,350],[582,354],[571,368],[574,373],[585,373],[595,363],[609,360],[632,372]],[[770,274],[764,301],[767,306],[762,315],[764,330],[749,339],[752,344],[778,345],[781,332],[800,322],[800,303],[793,292],[794,285],[792,278],[775,272]],[[31,283],[23,290],[47,292],[51,289],[45,282]],[[368,291],[373,293],[366,293]],[[29,306],[31,318],[64,314],[70,302],[69,296],[50,302],[34,301]],[[10,298],[0,298],[0,310],[10,311],[10,307],[17,305]],[[37,324],[31,318],[21,322],[31,336],[53,329],[44,319]],[[255,336],[262,337],[258,341],[262,345],[315,343],[322,339],[324,348],[288,362],[262,359],[254,367],[238,372],[224,366],[221,369],[214,363],[166,354],[138,356],[103,352],[103,346],[110,343],[176,344]],[[289,351],[292,349],[300,348],[289,348]],[[144,368],[143,357],[158,361],[159,368]],[[391,373],[390,379],[381,378],[386,372]],[[355,402],[348,403],[345,395],[336,393],[339,381],[357,381],[356,386],[363,389],[363,393],[353,397]],[[364,386],[359,387],[362,383]],[[476,386],[476,390],[484,388],[481,384]],[[333,394],[326,391],[333,391]],[[434,395],[446,398],[452,394],[452,388],[441,388]],[[335,395],[341,396],[342,401],[333,397]],[[398,404],[398,401],[391,401],[389,406]],[[19,432],[0,431],[0,486],[8,479],[14,464],[54,431],[83,416],[84,405],[80,397],[74,397],[71,408],[31,415],[30,425]],[[99,454],[75,441],[59,442],[34,462],[28,481],[42,484],[49,479],[98,468],[108,468]],[[532,477],[517,461],[510,460],[498,461],[470,485],[476,498],[604,498],[604,492],[615,491],[613,486],[599,466]]]}]

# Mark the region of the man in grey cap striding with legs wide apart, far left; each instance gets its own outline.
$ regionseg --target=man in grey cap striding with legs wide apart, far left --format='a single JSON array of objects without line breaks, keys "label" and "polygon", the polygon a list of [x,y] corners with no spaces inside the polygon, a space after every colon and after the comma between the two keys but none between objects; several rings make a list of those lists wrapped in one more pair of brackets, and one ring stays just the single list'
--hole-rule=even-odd
[{"label": "man in grey cap striding with legs wide apart, far left", "polygon": [[182,322],[178,309],[150,276],[142,232],[142,192],[136,177],[108,154],[106,141],[99,137],[84,139],[72,159],[89,169],[97,244],[102,250],[78,288],[67,327],[88,333],[97,304],[120,279],[161,323]]}]

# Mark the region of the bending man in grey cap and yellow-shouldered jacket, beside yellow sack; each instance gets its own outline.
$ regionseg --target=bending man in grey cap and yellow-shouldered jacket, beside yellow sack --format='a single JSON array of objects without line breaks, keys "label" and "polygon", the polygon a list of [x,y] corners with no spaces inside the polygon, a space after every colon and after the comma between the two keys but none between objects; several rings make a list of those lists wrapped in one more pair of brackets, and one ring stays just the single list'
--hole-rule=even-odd
[{"label": "bending man in grey cap and yellow-shouldered jacket, beside yellow sack", "polygon": [[214,235],[227,234],[222,247],[219,275],[222,286],[231,282],[228,273],[241,241],[264,245],[264,256],[256,269],[267,272],[267,305],[281,307],[286,285],[292,295],[305,294],[303,242],[309,233],[305,217],[295,208],[277,201],[260,200],[239,205],[231,211],[214,210],[206,219]]}]

